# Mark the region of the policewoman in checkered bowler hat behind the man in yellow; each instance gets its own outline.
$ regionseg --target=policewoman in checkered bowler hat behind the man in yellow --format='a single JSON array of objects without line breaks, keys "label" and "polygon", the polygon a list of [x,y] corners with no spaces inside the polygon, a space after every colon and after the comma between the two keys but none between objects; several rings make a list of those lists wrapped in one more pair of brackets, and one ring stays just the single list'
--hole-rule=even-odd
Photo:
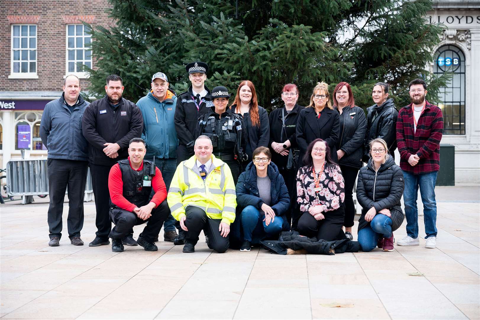
[{"label": "policewoman in checkered bowler hat behind the man in yellow", "polygon": [[228,106],[230,94],[227,88],[219,86],[212,90],[214,106],[198,119],[196,137],[205,135],[212,140],[213,154],[225,162],[232,172],[233,181],[237,184],[240,176],[240,161],[247,160],[243,150],[242,120],[240,115],[232,112]]}]

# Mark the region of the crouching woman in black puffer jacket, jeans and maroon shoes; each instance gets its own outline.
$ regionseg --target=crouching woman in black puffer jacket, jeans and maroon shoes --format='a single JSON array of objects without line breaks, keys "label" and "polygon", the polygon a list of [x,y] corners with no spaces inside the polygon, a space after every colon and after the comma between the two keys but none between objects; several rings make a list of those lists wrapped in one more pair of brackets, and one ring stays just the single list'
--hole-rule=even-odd
[{"label": "crouching woman in black puffer jacket, jeans and maroon shoes", "polygon": [[378,245],[384,251],[393,251],[393,231],[403,222],[400,199],[403,194],[403,171],[388,154],[387,144],[377,138],[370,142],[367,166],[360,168],[357,182],[357,200],[362,206],[358,241],[362,251]]}]

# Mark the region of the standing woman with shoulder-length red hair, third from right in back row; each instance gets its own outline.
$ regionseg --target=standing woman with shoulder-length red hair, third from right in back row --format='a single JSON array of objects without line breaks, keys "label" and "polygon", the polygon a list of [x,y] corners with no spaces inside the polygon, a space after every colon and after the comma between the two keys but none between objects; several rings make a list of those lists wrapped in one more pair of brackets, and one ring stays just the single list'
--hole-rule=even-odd
[{"label": "standing woman with shoulder-length red hair, third from right in back row", "polygon": [[338,164],[345,180],[345,235],[353,240],[352,227],[355,218],[353,186],[362,166],[363,144],[367,132],[367,118],[363,109],[355,105],[352,89],[347,82],[340,82],[333,91],[334,109],[339,114],[340,137],[336,142]]}]

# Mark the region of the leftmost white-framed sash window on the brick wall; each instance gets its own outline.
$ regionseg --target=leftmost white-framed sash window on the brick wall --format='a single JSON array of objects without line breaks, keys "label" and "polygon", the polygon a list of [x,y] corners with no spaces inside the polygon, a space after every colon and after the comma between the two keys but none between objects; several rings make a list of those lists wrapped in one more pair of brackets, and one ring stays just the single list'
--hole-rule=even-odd
[{"label": "leftmost white-framed sash window on the brick wall", "polygon": [[11,75],[36,76],[36,25],[12,25]]}]

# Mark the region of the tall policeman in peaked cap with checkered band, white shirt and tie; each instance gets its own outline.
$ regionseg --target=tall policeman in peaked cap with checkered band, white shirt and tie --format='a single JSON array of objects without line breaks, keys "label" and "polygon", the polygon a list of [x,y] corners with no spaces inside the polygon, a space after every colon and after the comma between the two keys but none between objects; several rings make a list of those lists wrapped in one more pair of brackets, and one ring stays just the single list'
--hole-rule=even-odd
[{"label": "tall policeman in peaked cap with checkered band, white shirt and tie", "polygon": [[209,107],[213,106],[210,90],[204,86],[208,65],[197,61],[187,64],[186,69],[192,85],[178,96],[174,116],[175,129],[179,139],[177,165],[193,155],[194,134],[198,118],[206,114]]}]

